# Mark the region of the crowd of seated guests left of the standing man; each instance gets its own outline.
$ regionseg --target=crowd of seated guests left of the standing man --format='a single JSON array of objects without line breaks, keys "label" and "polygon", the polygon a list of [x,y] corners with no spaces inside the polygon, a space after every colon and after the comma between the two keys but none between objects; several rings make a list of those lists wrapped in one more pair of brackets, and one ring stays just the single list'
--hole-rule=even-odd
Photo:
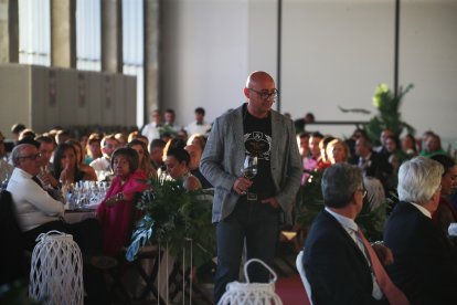
[{"label": "crowd of seated guests left of the standing man", "polygon": [[[161,117],[159,112],[156,113]],[[85,257],[87,301],[106,304],[103,272],[92,265],[91,257],[102,254],[118,257],[119,250],[130,238],[134,218],[138,217],[134,213],[135,194],[149,188],[148,180],[158,177],[158,172],[182,181],[188,190],[202,188],[200,179],[203,187],[211,187],[199,175],[201,154],[211,129],[203,117],[204,111],[195,109],[195,122],[185,129],[201,130],[202,134],[191,134],[189,138],[184,128],[174,122],[171,109],[166,112],[163,120],[171,133],[157,133],[157,137],[150,138],[140,130],[130,134],[97,130],[75,138],[71,130],[61,127],[36,134],[18,124],[12,133],[14,152],[7,149],[6,138],[0,133],[0,182],[4,181],[1,188],[12,194],[14,215],[26,249],[33,250],[35,239],[42,232],[72,233]],[[109,171],[111,176],[97,177],[99,171]],[[96,218],[66,223],[63,220],[63,187],[99,178],[110,180],[110,185],[96,210]]]}]

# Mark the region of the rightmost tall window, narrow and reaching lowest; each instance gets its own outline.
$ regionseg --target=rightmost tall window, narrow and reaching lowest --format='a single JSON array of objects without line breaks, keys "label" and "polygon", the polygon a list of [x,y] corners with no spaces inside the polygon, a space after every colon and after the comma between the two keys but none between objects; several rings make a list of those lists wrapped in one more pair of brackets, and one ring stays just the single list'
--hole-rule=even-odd
[{"label": "rightmost tall window, narrow and reaching lowest", "polygon": [[124,74],[137,76],[137,125],[145,113],[144,4],[142,0],[123,0]]}]

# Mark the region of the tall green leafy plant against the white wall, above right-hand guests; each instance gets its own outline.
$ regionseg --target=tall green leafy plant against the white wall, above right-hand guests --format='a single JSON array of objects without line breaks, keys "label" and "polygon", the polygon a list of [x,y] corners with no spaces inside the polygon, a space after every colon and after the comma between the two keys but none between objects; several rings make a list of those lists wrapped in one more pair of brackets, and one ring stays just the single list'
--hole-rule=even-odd
[{"label": "tall green leafy plant against the white wall, above right-hand guests", "polygon": [[[382,130],[385,128],[392,130],[397,137],[404,129],[406,129],[408,134],[415,134],[415,129],[410,124],[402,120],[402,115],[400,113],[400,106],[402,105],[404,95],[413,87],[413,84],[407,85],[404,90],[400,87],[396,96],[386,84],[381,84],[376,87],[372,101],[373,106],[378,109],[379,114],[374,115],[369,123],[363,125],[363,129],[371,140],[378,143]],[[347,109],[339,107],[339,109],[343,113],[371,113],[361,108]]]}]

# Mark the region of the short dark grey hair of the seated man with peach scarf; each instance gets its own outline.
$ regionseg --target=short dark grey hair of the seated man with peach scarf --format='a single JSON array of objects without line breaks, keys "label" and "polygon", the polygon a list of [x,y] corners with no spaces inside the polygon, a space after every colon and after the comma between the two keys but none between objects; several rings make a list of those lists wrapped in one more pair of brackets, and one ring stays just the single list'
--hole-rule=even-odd
[{"label": "short dark grey hair of the seated man with peach scarf", "polygon": [[363,183],[362,171],[349,164],[334,164],[323,171],[321,189],[325,204],[343,208]]}]

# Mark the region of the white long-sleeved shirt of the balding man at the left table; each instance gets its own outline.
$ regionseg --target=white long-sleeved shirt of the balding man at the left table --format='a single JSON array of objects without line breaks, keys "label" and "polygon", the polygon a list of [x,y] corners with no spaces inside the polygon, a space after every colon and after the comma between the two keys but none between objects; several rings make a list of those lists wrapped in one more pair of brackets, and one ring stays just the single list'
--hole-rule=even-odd
[{"label": "white long-sleeved shirt of the balding man at the left table", "polygon": [[53,199],[32,180],[29,172],[20,168],[14,168],[7,190],[11,192],[22,231],[59,220],[64,213],[64,204]]}]

